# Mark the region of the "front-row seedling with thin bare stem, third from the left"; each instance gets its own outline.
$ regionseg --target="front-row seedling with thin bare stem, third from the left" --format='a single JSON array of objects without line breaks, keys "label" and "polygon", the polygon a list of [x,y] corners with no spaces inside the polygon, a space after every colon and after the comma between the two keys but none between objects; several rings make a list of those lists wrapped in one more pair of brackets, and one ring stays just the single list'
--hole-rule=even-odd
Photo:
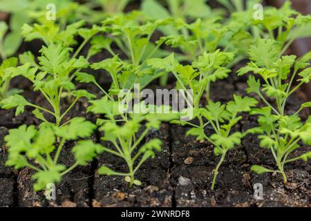
[{"label": "front-row seedling with thin bare stem, third from the left", "polygon": [[[257,101],[250,97],[240,97],[234,95],[234,101],[227,104],[220,102],[211,102],[205,108],[194,109],[194,116],[198,119],[199,125],[190,122],[172,121],[174,124],[189,125],[191,128],[186,135],[194,135],[197,140],[207,140],[214,145],[214,154],[220,155],[220,160],[214,170],[213,181],[211,182],[211,190],[214,189],[218,170],[225,160],[228,151],[232,150],[236,145],[241,144],[241,139],[245,133],[234,132],[233,128],[242,119],[239,116],[242,112],[248,112],[252,107],[256,106]],[[206,121],[204,120],[206,119]],[[210,125],[214,133],[205,134],[206,126]]]}]

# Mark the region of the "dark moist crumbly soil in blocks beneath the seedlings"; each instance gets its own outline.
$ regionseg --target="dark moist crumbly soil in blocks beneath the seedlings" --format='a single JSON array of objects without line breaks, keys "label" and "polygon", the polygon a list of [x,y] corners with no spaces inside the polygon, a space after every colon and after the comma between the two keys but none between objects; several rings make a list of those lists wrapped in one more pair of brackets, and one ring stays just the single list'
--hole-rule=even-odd
[{"label": "dark moist crumbly soil in blocks beneath the seedlings", "polygon": [[[19,79],[16,82],[23,81]],[[227,102],[234,93],[245,95],[245,82],[245,78],[237,77],[218,81],[211,86],[211,99]],[[88,87],[91,92],[98,93],[93,86]],[[39,94],[30,92],[27,82],[19,84],[19,88],[23,88],[23,95],[31,102],[46,106]],[[288,101],[288,113],[296,111],[301,103],[299,93],[294,95]],[[63,108],[66,109],[68,104],[64,101]],[[83,116],[95,122],[100,116],[86,114],[86,106],[86,100],[82,99],[70,111],[68,118]],[[97,169],[102,165],[110,166],[115,171],[126,171],[125,162],[103,153],[88,165],[77,167],[65,175],[62,182],[56,185],[56,200],[46,200],[42,191],[35,193],[32,190],[32,170],[15,171],[4,166],[7,157],[4,137],[8,129],[21,124],[40,123],[31,111],[31,108],[26,108],[25,113],[18,117],[12,110],[0,111],[0,206],[311,206],[310,163],[299,161],[285,166],[287,188],[278,174],[256,175],[249,171],[253,164],[275,169],[270,151],[260,148],[254,135],[245,137],[241,146],[227,154],[215,189],[211,191],[213,170],[219,157],[214,155],[209,142],[186,137],[189,128],[176,124],[162,124],[159,131],[150,131],[144,139],[146,142],[158,137],[163,146],[162,151],[144,163],[136,173],[142,186],[129,188],[124,177],[99,175]],[[308,111],[301,113],[303,119],[308,115]],[[256,126],[256,118],[243,115],[243,120],[234,129],[245,131],[252,126]],[[206,133],[211,133],[210,128]],[[111,146],[102,142],[100,137],[101,134],[96,132],[92,138],[94,142]],[[73,164],[70,150],[74,144],[66,143],[60,157],[60,161],[67,166]],[[293,155],[311,150],[310,146],[301,146]],[[254,199],[254,184],[263,185],[263,200]]]}]

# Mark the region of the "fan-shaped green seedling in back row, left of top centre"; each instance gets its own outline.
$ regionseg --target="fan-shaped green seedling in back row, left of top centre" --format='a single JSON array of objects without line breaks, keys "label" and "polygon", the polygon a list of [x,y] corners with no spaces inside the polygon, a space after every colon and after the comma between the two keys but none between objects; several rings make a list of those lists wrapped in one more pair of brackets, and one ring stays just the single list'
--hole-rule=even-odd
[{"label": "fan-shaped green seedling in back row, left of top centre", "polygon": [[[159,55],[160,46],[151,42],[153,33],[159,26],[169,23],[170,19],[149,20],[140,12],[131,12],[126,15],[115,15],[102,21],[103,32],[108,33],[110,44],[114,42],[126,55],[126,61],[133,66],[140,66],[149,57]],[[109,45],[110,45],[109,44]],[[108,50],[111,55],[117,52]],[[161,54],[160,54],[161,55]]]}]

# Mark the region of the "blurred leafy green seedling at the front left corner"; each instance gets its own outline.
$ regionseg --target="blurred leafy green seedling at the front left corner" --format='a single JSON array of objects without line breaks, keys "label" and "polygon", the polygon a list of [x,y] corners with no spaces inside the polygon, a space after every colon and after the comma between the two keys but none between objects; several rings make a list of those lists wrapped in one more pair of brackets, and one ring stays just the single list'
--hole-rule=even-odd
[{"label": "blurred leafy green seedling at the front left corner", "polygon": [[94,144],[92,140],[81,140],[71,151],[75,163],[68,167],[59,163],[59,156],[66,142],[90,137],[95,128],[91,122],[76,117],[62,127],[40,126],[37,130],[35,126],[22,125],[11,129],[5,137],[8,146],[6,166],[34,170],[32,180],[36,182],[33,188],[41,191],[47,184],[60,182],[62,176],[77,166],[85,166],[103,151],[100,144]]}]

